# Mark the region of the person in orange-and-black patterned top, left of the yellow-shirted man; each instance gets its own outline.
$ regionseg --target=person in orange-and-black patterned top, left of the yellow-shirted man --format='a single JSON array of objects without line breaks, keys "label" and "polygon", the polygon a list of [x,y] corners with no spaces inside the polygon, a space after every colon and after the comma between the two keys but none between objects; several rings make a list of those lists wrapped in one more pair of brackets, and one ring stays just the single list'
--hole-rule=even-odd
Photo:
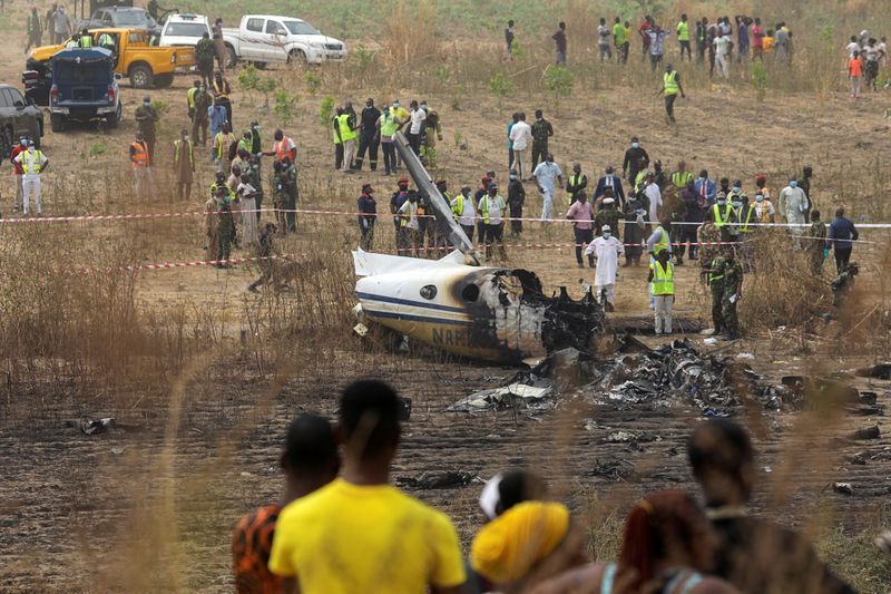
[{"label": "person in orange-and-black patterned top, left of the yellow-shirted man", "polygon": [[329,420],[315,415],[297,417],[287,429],[281,465],[285,473],[282,499],[242,517],[235,526],[232,563],[238,594],[284,591],[282,578],[268,568],[275,523],[287,504],[324,487],[337,476],[337,440]]}]

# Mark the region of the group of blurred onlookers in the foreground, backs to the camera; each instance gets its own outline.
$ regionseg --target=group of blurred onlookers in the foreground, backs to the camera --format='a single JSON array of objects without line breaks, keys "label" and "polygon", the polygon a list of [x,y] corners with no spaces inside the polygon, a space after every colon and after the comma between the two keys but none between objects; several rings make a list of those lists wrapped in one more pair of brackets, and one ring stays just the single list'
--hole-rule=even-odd
[{"label": "group of blurred onlookers in the foreground, backs to the camera", "polygon": [[615,559],[591,559],[581,514],[525,469],[483,486],[463,558],[450,518],[391,483],[405,410],[392,387],[360,380],[343,390],[336,426],[293,421],[281,499],[234,530],[239,593],[853,592],[804,536],[750,509],[756,452],[728,419],[699,423],[687,440],[701,502],[682,490],[629,502]]}]

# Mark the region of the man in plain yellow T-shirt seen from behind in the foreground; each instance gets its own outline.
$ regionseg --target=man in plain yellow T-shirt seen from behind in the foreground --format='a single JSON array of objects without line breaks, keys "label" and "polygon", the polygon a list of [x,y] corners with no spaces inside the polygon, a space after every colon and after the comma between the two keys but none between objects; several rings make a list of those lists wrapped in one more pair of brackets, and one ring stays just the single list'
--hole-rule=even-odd
[{"label": "man in plain yellow T-shirt seen from behind in the foreground", "polygon": [[292,592],[462,592],[464,568],[449,518],[390,485],[402,406],[380,381],[343,391],[341,478],[285,507],[276,524],[270,569],[293,578]]}]

